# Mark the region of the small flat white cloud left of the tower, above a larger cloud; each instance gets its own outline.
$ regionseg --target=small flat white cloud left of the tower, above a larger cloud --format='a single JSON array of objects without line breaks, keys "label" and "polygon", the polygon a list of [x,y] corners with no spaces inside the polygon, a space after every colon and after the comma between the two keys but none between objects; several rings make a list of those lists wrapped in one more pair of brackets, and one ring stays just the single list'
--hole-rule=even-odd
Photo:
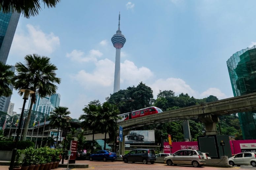
[{"label": "small flat white cloud left of the tower, above a larger cloud", "polygon": [[89,62],[97,61],[97,57],[101,57],[103,54],[99,50],[90,50],[88,55],[85,55],[84,52],[80,50],[73,50],[71,53],[67,53],[67,57],[71,58],[72,61],[78,62]]}]

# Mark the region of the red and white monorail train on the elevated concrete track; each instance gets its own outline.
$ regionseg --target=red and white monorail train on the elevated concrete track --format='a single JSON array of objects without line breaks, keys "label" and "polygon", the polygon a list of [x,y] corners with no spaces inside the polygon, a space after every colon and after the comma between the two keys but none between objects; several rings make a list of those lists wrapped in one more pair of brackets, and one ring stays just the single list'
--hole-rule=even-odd
[{"label": "red and white monorail train on the elevated concrete track", "polygon": [[135,110],[129,113],[119,114],[118,116],[120,116],[121,119],[119,119],[118,122],[161,112],[163,112],[161,109],[152,106],[140,110]]}]

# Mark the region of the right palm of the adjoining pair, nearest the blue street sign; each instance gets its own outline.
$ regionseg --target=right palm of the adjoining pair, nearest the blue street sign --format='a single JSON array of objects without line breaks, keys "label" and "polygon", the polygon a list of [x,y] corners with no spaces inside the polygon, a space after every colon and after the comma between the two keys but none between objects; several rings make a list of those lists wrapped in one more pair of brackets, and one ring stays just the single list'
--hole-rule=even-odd
[{"label": "right palm of the adjoining pair, nearest the blue street sign", "polygon": [[116,105],[112,105],[109,102],[105,102],[99,112],[98,118],[100,121],[100,129],[105,133],[104,150],[106,150],[107,133],[117,131],[117,120],[120,119],[118,115],[119,109]]}]

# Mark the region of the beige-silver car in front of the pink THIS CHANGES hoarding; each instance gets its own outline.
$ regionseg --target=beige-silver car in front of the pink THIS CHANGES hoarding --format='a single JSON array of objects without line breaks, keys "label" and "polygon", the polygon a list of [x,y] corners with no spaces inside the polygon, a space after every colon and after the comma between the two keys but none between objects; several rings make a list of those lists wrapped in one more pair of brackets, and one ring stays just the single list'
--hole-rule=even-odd
[{"label": "beige-silver car in front of the pink THIS CHANGES hoarding", "polygon": [[165,157],[164,163],[167,165],[177,165],[177,164],[184,164],[184,165],[192,165],[194,167],[200,167],[205,164],[205,159],[199,150],[193,149],[182,149],[176,151],[174,154]]}]

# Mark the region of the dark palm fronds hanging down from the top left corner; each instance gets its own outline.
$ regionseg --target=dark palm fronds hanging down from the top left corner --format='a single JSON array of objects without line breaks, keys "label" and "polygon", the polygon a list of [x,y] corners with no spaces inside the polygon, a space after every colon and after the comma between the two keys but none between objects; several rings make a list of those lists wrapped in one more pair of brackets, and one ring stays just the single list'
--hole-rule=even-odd
[{"label": "dark palm fronds hanging down from the top left corner", "polygon": [[[41,0],[48,8],[56,7],[60,0]],[[41,11],[40,0],[0,0],[0,9],[4,13],[16,11],[29,18],[30,16],[38,15]]]}]

